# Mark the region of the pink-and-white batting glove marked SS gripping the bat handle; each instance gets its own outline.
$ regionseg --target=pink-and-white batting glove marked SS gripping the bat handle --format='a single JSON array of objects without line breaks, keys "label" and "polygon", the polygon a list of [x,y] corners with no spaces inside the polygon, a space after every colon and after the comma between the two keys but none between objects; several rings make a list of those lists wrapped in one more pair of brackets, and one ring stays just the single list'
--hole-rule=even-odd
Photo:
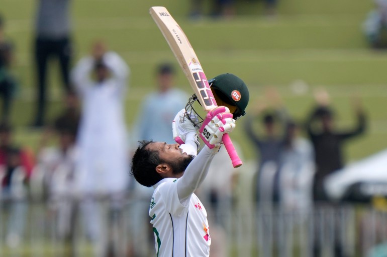
[{"label": "pink-and-white batting glove marked SS gripping the bat handle", "polygon": [[235,120],[229,108],[218,106],[207,113],[199,133],[204,143],[212,149],[220,145],[223,134],[230,133],[234,128]]}]

